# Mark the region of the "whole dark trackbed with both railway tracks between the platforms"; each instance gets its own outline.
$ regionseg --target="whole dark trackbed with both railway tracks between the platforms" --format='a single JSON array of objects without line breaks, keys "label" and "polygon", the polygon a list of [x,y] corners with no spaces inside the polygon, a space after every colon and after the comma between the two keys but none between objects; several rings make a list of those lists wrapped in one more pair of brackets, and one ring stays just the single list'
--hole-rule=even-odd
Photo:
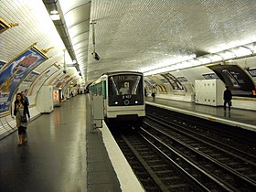
[{"label": "whole dark trackbed with both railway tracks between the platforms", "polygon": [[117,139],[146,191],[256,191],[253,153],[161,116]]}]

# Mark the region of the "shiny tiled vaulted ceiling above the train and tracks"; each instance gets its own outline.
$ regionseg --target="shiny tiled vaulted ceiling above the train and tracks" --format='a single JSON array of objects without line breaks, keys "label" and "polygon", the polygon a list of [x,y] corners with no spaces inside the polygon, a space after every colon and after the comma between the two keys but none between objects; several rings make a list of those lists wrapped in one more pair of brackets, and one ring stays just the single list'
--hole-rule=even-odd
[{"label": "shiny tiled vaulted ceiling above the train and tracks", "polygon": [[254,0],[92,1],[101,60],[89,57],[88,77],[255,41],[255,10]]}]

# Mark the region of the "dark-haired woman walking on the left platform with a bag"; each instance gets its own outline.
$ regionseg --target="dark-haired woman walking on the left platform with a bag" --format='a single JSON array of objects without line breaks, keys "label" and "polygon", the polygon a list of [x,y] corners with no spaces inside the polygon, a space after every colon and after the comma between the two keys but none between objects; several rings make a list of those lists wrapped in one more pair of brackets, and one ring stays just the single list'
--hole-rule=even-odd
[{"label": "dark-haired woman walking on the left platform with a bag", "polygon": [[16,116],[16,126],[18,130],[18,139],[19,144],[18,146],[22,145],[22,136],[24,135],[24,142],[27,143],[27,116],[30,119],[30,115],[28,112],[28,105],[23,100],[22,94],[16,94],[16,101],[15,101],[15,109],[14,115]]}]

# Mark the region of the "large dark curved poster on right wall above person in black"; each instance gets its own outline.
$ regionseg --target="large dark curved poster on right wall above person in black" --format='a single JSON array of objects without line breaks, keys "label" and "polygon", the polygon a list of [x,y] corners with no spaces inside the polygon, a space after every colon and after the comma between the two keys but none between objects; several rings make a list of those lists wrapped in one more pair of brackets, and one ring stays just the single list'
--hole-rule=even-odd
[{"label": "large dark curved poster on right wall above person in black", "polygon": [[[237,65],[212,65],[212,69],[226,85],[232,95],[243,97],[256,97],[255,85],[249,74]],[[254,95],[253,95],[254,94]]]}]

